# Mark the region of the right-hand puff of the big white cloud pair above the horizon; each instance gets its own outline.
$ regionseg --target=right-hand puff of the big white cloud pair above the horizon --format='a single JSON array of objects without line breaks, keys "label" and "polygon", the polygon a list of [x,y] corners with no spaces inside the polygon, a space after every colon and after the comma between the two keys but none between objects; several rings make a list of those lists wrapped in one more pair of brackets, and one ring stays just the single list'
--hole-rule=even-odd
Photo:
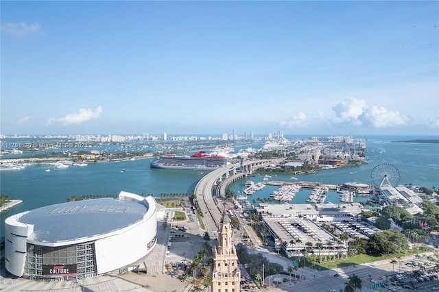
[{"label": "right-hand puff of the big white cloud pair above the horizon", "polygon": [[409,121],[405,115],[397,111],[388,110],[382,106],[366,108],[359,119],[363,122],[363,125],[371,127],[394,127],[396,125],[405,125]]}]

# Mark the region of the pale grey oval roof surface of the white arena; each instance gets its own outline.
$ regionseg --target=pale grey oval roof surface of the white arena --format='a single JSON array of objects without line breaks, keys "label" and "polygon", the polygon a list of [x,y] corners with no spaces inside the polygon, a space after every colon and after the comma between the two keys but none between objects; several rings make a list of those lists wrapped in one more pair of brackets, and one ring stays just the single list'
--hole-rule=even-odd
[{"label": "pale grey oval roof surface of the white arena", "polygon": [[88,199],[37,208],[17,221],[34,226],[29,240],[56,243],[126,228],[141,221],[147,210],[145,204],[131,200]]}]

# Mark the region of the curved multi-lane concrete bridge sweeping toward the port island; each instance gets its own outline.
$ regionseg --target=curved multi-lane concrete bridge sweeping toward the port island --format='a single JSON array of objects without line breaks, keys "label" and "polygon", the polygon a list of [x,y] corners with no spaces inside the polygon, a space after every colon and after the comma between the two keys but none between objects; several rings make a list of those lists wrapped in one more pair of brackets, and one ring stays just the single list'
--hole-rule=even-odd
[{"label": "curved multi-lane concrete bridge sweeping toward the port island", "polygon": [[[276,164],[279,161],[281,160],[248,161],[244,162],[243,171],[239,173],[237,173],[237,168],[240,167],[240,165],[235,164],[216,169],[204,176],[204,178],[198,182],[197,186],[195,186],[195,197],[197,198],[198,205],[203,212],[203,221],[206,231],[211,232],[218,230],[223,210],[220,210],[221,207],[218,206],[217,196],[221,195],[225,197],[228,184],[238,178],[251,174],[254,169]],[[217,185],[219,185],[219,188],[217,188],[214,196],[213,186]]]}]

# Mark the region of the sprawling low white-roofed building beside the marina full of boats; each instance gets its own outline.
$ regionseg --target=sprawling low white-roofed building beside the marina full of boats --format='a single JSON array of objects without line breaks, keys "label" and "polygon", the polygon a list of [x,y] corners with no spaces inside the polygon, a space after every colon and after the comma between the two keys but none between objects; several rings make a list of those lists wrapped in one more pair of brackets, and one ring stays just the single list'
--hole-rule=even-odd
[{"label": "sprawling low white-roofed building beside the marina full of boats", "polygon": [[[322,228],[333,222],[357,222],[362,206],[351,204],[260,204],[257,212],[276,249],[287,256],[346,256],[348,245]],[[364,236],[366,237],[366,236]]]}]

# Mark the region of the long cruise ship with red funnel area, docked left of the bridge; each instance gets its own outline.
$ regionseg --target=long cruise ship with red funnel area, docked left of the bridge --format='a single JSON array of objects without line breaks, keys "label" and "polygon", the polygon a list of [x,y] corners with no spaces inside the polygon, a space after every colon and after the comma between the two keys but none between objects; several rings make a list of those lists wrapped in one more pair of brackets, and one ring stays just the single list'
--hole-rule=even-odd
[{"label": "long cruise ship with red funnel area, docked left of the bridge", "polygon": [[230,164],[229,158],[219,154],[207,154],[206,151],[199,151],[191,156],[177,156],[168,153],[160,156],[150,163],[154,169],[183,169],[183,170],[206,170],[211,171],[226,167]]}]

